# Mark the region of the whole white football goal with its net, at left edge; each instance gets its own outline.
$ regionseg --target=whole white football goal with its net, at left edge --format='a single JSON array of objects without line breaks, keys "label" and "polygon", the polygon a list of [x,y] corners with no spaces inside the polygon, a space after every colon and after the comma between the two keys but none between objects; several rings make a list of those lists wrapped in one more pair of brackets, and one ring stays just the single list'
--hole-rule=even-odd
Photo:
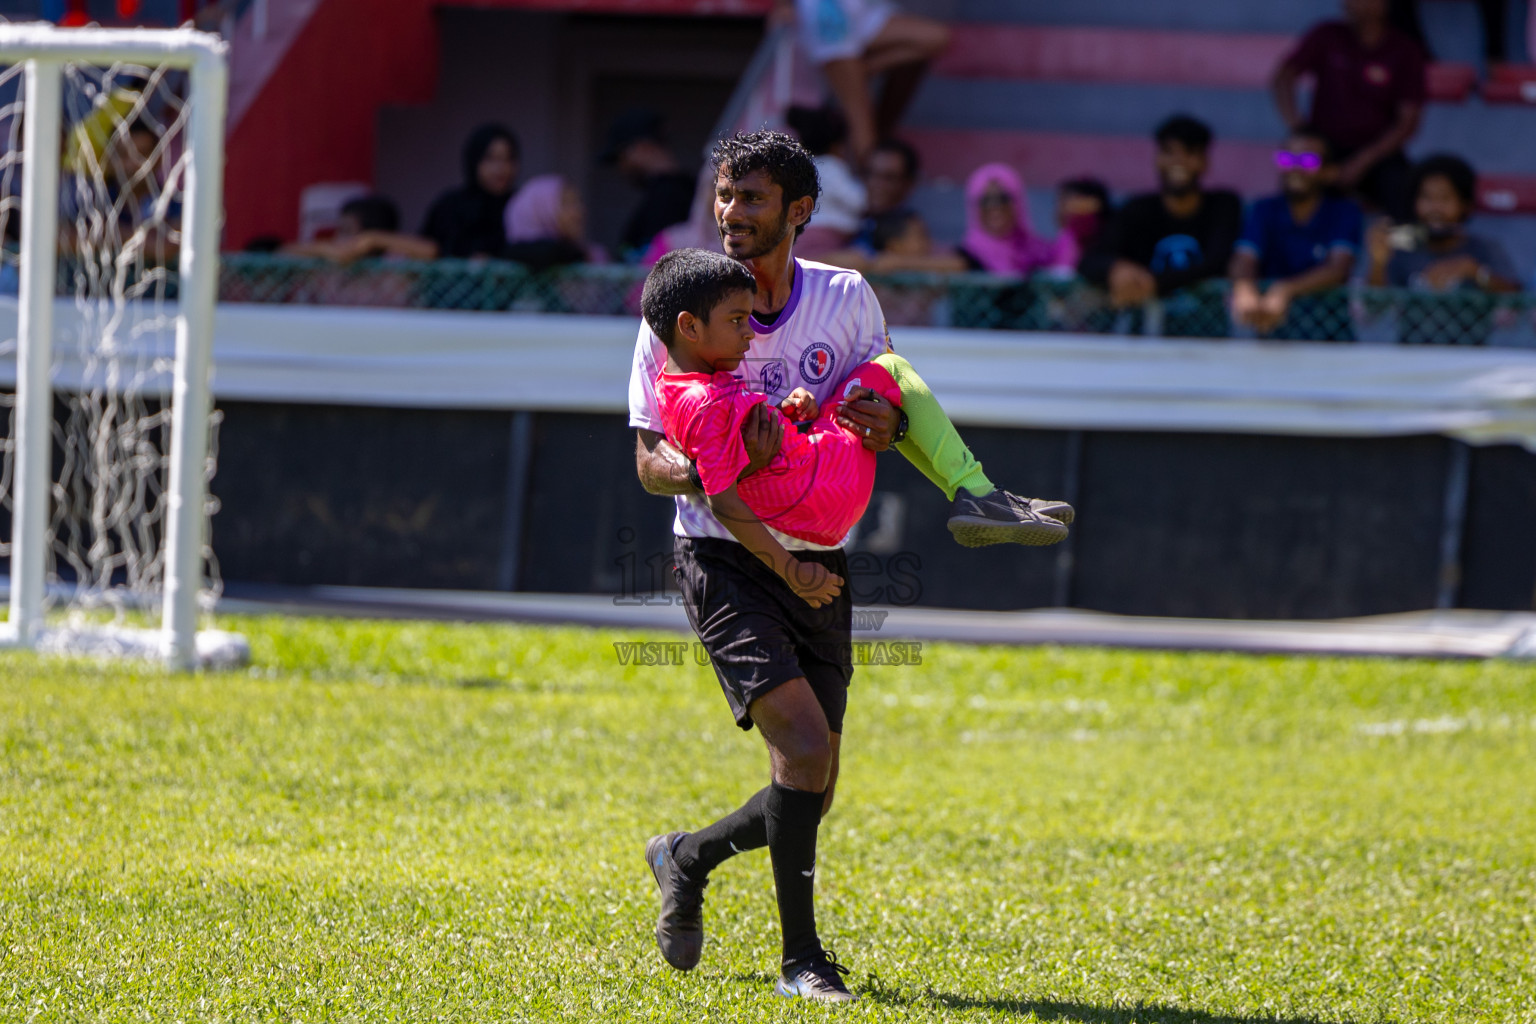
[{"label": "whole white football goal with its net, at left edge", "polygon": [[197,633],[223,45],[0,25],[0,643],[240,662]]}]

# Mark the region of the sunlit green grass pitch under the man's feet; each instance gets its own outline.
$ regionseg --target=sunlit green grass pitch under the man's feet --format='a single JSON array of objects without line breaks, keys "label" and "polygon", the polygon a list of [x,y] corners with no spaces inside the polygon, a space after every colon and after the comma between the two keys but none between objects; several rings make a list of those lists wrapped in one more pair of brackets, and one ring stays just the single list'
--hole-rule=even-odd
[{"label": "sunlit green grass pitch under the man's feet", "polygon": [[765,780],[707,668],[232,626],[230,676],[0,654],[0,1021],[1536,1019],[1528,666],[860,671],[817,878],[865,998],[826,1010],[770,992],[765,852],[697,970],[656,953],[642,843]]}]

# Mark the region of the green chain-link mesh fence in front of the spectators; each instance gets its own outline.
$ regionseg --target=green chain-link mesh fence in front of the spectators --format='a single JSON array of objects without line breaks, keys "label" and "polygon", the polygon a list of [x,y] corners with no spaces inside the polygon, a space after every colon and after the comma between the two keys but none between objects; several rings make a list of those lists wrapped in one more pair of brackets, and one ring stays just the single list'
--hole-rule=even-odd
[{"label": "green chain-link mesh fence in front of the spectators", "polygon": [[[639,315],[645,267],[573,266],[530,272],[513,263],[323,259],[238,253],[223,261],[226,302]],[[1049,330],[1166,338],[1378,341],[1536,347],[1527,295],[1339,289],[1298,298],[1267,335],[1236,327],[1226,282],[1206,282],[1143,307],[1115,309],[1077,278],[1028,281],[985,273],[871,276],[886,322],[985,330]]]}]

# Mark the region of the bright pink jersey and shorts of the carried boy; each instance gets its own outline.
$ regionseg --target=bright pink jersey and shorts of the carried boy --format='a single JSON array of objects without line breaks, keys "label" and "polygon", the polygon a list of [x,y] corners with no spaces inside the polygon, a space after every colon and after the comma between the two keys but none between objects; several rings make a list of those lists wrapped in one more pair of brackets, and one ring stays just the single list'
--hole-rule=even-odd
[{"label": "bright pink jersey and shorts of the carried boy", "polygon": [[[902,404],[895,381],[874,362],[856,367],[837,398],[854,384]],[[742,421],[766,398],[730,373],[662,372],[656,378],[667,439],[697,464],[707,494],[728,490],[751,462],[742,444]],[[768,408],[783,416],[771,402]],[[863,447],[860,434],[837,425],[834,411],[836,404],[828,402],[803,433],[785,418],[779,454],[736,488],[765,525],[822,545],[842,543],[874,490],[874,451]]]}]

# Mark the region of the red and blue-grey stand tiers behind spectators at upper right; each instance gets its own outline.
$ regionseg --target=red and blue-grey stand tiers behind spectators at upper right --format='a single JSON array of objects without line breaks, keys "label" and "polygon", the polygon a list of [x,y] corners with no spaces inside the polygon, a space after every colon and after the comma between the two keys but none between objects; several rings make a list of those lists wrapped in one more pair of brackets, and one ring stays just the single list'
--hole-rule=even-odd
[{"label": "red and blue-grey stand tiers behind spectators at upper right", "polygon": [[[1117,192],[1149,187],[1147,135],[1172,111],[1215,129],[1212,184],[1249,198],[1270,192],[1283,126],[1269,77],[1307,26],[1336,17],[1338,3],[963,0],[948,14],[954,45],[917,97],[906,135],[928,173],[914,203],[935,236],[952,239],[963,230],[958,183],[988,160],[1018,167],[1041,224],[1060,180],[1092,172]],[[1528,275],[1536,141],[1519,107],[1536,101],[1536,69],[1495,69],[1479,92],[1470,5],[1433,5],[1425,23],[1441,60],[1410,154],[1459,152],[1484,172],[1479,206],[1495,216],[1479,229],[1501,238]]]}]

